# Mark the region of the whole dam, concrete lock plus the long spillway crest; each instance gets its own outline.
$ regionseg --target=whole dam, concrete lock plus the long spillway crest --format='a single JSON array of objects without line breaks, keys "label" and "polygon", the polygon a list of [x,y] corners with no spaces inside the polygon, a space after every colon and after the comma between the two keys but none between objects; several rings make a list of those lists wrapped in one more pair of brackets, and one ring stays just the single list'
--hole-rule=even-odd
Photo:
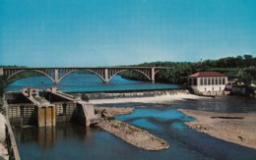
[{"label": "whole dam, concrete lock plus the long spillway crest", "polygon": [[[39,91],[37,88],[23,88],[21,92],[6,92],[8,107],[5,109],[11,125],[55,126],[58,122],[74,122],[90,126],[100,121],[94,105],[88,100],[133,97],[155,97],[189,93],[186,89],[124,90],[88,93],[64,93],[56,87]],[[86,100],[81,97],[86,96]]]}]

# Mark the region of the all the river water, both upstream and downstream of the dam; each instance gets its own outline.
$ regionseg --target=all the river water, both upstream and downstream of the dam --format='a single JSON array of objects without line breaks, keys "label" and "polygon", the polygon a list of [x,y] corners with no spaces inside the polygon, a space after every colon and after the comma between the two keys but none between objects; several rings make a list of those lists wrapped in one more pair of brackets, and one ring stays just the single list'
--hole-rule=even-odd
[{"label": "all the river water, both upstream and downstream of the dam", "polygon": [[[87,79],[86,79],[87,78]],[[89,79],[90,78],[90,79]],[[39,81],[39,82],[38,82]],[[17,80],[6,90],[19,90],[22,86],[48,87],[51,81],[43,77]],[[179,88],[179,85],[152,84],[123,80],[116,77],[102,84],[93,75],[72,74],[60,82],[64,91],[97,91],[145,88]],[[140,88],[141,87],[141,88]],[[56,127],[14,130],[22,159],[256,159],[256,150],[225,142],[184,126],[193,121],[177,108],[216,112],[255,112],[256,100],[245,97],[224,96],[210,100],[177,100],[169,104],[108,104],[105,106],[135,107],[130,115],[116,119],[145,129],[170,143],[161,151],[145,151],[98,128],[71,123],[58,123]]]}]

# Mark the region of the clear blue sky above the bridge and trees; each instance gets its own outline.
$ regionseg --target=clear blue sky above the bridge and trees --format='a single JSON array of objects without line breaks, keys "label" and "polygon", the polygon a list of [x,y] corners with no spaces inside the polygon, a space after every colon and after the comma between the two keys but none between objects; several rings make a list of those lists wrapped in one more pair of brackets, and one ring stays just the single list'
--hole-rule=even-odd
[{"label": "clear blue sky above the bridge and trees", "polygon": [[256,56],[255,0],[0,0],[0,66]]}]

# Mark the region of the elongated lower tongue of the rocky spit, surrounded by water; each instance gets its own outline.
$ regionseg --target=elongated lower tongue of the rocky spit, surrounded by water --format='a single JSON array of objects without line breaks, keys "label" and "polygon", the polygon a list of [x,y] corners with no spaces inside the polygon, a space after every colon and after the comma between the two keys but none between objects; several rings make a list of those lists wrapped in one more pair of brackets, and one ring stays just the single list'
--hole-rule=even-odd
[{"label": "elongated lower tongue of the rocky spit, surrounded by water", "polygon": [[145,150],[161,150],[169,147],[165,140],[120,121],[106,120],[99,123],[98,126],[124,141]]}]

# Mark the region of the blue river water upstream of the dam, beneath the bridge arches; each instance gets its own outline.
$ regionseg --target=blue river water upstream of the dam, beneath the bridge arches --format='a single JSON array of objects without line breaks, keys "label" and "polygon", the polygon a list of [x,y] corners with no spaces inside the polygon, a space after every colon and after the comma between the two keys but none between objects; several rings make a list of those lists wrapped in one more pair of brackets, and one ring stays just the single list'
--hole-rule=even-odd
[{"label": "blue river water upstream of the dam, beneath the bridge arches", "polygon": [[125,80],[120,76],[115,76],[108,83],[103,83],[94,74],[72,73],[54,84],[47,77],[31,77],[22,80],[16,80],[10,83],[6,91],[19,91],[25,86],[33,86],[40,89],[57,86],[64,92],[86,92],[86,91],[111,91],[111,90],[140,90],[140,89],[169,89],[183,88],[182,85],[168,83],[151,83],[137,80]]}]

